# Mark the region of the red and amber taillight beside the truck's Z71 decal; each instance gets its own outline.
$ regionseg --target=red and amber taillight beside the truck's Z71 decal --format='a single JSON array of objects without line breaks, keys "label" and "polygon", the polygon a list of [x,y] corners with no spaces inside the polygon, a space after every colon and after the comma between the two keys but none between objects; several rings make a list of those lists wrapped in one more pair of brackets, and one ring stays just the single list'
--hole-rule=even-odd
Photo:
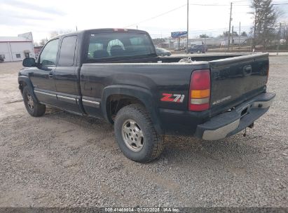
[{"label": "red and amber taillight beside the truck's Z71 decal", "polygon": [[205,111],[210,107],[210,70],[195,70],[189,88],[189,110]]}]

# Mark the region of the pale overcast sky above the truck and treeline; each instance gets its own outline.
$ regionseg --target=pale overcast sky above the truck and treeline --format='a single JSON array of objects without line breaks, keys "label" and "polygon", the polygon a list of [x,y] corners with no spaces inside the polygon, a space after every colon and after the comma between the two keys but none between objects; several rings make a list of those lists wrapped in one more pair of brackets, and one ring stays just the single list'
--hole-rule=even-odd
[{"label": "pale overcast sky above the truck and treeline", "polygon": [[[235,0],[233,21],[235,31],[239,22],[246,32],[252,25],[249,0]],[[67,29],[92,29],[102,27],[125,27],[144,29],[153,37],[169,36],[173,31],[186,30],[186,6],[155,17],[186,4],[186,0],[83,0],[83,1],[0,1],[0,36],[15,36],[32,32],[34,40],[49,38],[50,32]],[[190,0],[190,4],[221,4],[225,6],[190,5],[189,33],[198,36],[206,33],[217,35],[228,30],[230,0]],[[146,20],[142,22],[142,20]]]}]

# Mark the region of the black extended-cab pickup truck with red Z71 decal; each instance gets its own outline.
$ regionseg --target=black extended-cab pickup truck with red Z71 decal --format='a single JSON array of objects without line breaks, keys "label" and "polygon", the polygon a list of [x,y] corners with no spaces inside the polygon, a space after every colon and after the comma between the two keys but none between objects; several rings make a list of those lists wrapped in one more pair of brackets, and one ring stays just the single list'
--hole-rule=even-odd
[{"label": "black extended-cab pickup truck with red Z71 decal", "polygon": [[267,53],[158,57],[147,32],[90,29],[56,36],[18,82],[25,107],[46,105],[114,124],[128,158],[148,162],[164,135],[218,140],[251,127],[268,111]]}]

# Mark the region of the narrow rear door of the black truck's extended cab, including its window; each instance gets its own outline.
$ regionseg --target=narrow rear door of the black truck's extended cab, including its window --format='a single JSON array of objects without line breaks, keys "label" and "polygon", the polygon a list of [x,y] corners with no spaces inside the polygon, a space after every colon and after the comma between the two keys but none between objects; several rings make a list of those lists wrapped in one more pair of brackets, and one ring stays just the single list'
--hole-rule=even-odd
[{"label": "narrow rear door of the black truck's extended cab, including its window", "polygon": [[78,89],[78,66],[76,62],[77,36],[66,36],[61,41],[59,59],[55,70],[57,107],[67,111],[81,113],[78,101],[81,97]]}]

